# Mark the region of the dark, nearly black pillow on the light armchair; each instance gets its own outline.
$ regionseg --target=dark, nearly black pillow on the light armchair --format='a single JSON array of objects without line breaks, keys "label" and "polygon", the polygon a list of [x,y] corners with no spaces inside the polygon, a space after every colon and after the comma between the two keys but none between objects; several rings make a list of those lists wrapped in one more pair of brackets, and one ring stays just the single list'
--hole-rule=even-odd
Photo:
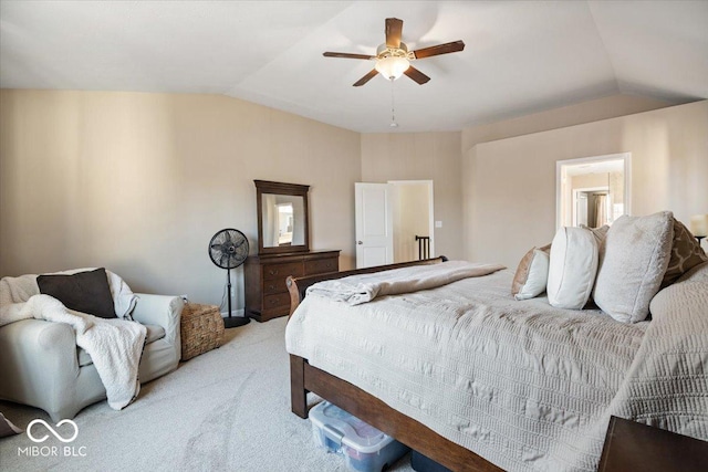
[{"label": "dark, nearly black pillow on the light armchair", "polygon": [[103,268],[72,275],[38,275],[37,284],[40,293],[53,296],[69,310],[102,318],[116,317],[108,277]]}]

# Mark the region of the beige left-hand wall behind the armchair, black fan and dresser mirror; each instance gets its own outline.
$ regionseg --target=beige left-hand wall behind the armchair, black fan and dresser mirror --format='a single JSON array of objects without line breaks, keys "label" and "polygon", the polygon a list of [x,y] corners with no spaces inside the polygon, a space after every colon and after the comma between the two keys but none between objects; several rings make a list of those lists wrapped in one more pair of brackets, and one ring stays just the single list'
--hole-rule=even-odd
[{"label": "beige left-hand wall behind the armchair, black fan and dresser mirror", "polygon": [[354,266],[358,133],[220,95],[4,90],[0,113],[0,275],[106,266],[219,304],[207,244],[257,250],[253,179],[310,185],[312,248]]}]

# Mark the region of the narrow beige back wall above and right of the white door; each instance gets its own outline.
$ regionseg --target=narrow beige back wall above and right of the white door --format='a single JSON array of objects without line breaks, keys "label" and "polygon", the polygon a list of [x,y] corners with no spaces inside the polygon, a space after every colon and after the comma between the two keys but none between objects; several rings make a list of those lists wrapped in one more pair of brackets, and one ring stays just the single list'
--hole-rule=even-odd
[{"label": "narrow beige back wall above and right of the white door", "polygon": [[362,181],[433,180],[436,255],[464,256],[460,133],[364,134]]}]

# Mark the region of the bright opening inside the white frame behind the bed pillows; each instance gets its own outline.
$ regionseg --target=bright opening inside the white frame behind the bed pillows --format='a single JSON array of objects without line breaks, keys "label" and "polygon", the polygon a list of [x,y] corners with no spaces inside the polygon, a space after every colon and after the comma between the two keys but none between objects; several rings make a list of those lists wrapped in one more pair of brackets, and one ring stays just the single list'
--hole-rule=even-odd
[{"label": "bright opening inside the white frame behind the bed pillows", "polygon": [[612,224],[631,211],[629,153],[556,162],[556,227]]}]

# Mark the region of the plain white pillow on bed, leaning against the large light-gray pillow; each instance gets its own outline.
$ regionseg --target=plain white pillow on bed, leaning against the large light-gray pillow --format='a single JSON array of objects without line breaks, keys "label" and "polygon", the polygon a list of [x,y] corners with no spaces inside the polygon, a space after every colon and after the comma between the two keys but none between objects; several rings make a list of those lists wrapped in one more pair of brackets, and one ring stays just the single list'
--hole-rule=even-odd
[{"label": "plain white pillow on bed, leaning against the large light-gray pillow", "polygon": [[561,228],[551,243],[546,292],[559,308],[582,310],[597,274],[597,240],[583,228]]}]

